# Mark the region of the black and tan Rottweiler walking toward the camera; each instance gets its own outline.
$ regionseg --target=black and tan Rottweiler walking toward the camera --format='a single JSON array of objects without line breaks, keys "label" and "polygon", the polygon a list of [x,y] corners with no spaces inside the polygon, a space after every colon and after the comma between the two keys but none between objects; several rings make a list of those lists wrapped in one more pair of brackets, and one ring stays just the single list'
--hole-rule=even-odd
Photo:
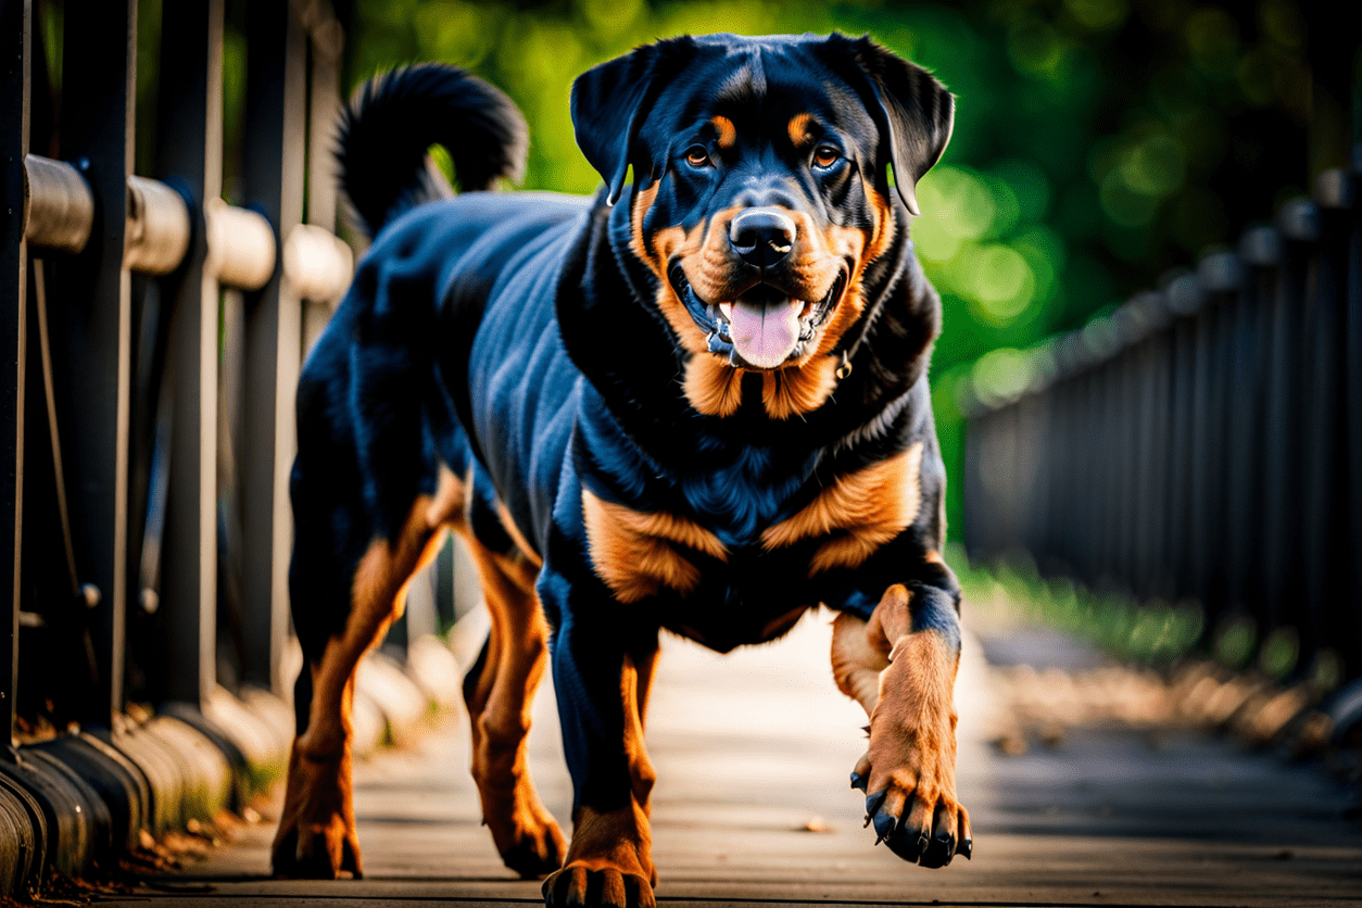
[{"label": "black and tan Rottweiler walking toward the camera", "polygon": [[[455,68],[380,76],[342,124],[375,240],[298,385],[306,667],[274,871],[361,875],[354,667],[447,530],[492,615],[464,681],[482,815],[548,904],[654,904],[659,632],[727,652],[820,603],[869,716],[851,785],[876,844],[968,858],[928,388],[941,304],[908,238],[952,95],[868,37],[719,34],[603,63],[571,105],[592,197],[488,192],[520,176],[524,123]],[[526,764],[546,667],[571,843]]]}]

